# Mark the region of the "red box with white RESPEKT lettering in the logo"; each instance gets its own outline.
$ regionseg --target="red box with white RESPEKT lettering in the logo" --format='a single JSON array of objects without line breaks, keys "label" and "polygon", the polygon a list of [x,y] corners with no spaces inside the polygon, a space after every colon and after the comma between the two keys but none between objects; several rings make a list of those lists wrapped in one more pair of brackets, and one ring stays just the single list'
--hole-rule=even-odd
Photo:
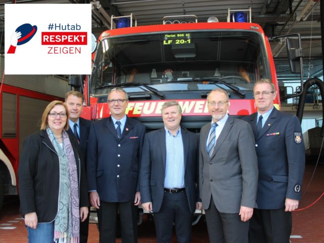
[{"label": "red box with white RESPEKT lettering in the logo", "polygon": [[42,45],[87,45],[87,32],[42,32]]}]

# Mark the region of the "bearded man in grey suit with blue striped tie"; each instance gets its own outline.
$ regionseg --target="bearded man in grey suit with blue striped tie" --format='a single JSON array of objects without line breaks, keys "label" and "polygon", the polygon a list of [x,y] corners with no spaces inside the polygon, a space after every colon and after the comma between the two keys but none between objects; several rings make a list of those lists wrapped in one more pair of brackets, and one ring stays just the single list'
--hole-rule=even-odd
[{"label": "bearded man in grey suit with blue striped tie", "polygon": [[248,243],[258,164],[251,126],[227,114],[228,94],[207,97],[212,123],[200,131],[199,191],[211,242]]}]

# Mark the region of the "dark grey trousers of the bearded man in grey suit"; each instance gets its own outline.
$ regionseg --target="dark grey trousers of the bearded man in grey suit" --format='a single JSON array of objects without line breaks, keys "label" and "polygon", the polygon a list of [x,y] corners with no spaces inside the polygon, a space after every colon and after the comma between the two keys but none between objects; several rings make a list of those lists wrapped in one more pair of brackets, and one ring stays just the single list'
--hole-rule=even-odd
[{"label": "dark grey trousers of the bearded man in grey suit", "polygon": [[221,213],[213,197],[205,210],[209,240],[211,243],[248,243],[249,221],[241,221],[237,214]]}]

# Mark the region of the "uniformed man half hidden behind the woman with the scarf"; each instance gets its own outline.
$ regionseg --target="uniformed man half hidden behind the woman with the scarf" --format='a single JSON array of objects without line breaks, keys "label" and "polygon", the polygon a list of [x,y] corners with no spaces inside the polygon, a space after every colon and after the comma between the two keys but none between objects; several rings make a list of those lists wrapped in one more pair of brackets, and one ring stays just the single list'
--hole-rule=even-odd
[{"label": "uniformed man half hidden behind the woman with the scarf", "polygon": [[[69,130],[80,146],[87,168],[87,145],[91,121],[80,117],[83,110],[84,96],[78,91],[70,91],[65,95],[65,104],[69,112]],[[89,211],[90,212],[90,211]],[[89,217],[84,222],[80,222],[80,243],[87,243],[89,231]]]}]

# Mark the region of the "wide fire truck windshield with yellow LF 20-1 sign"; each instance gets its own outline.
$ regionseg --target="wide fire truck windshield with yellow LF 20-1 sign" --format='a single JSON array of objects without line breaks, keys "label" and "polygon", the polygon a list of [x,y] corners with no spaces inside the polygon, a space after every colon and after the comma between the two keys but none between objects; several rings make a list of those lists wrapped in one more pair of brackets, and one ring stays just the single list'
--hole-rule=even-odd
[{"label": "wide fire truck windshield with yellow LF 20-1 sign", "polygon": [[[106,95],[114,85],[129,93],[150,92],[141,83],[168,93],[212,90],[219,86],[252,90],[256,80],[271,80],[262,35],[249,30],[194,30],[102,38],[91,94]],[[220,79],[222,82],[211,82]],[[125,87],[123,86],[125,84]]]}]

